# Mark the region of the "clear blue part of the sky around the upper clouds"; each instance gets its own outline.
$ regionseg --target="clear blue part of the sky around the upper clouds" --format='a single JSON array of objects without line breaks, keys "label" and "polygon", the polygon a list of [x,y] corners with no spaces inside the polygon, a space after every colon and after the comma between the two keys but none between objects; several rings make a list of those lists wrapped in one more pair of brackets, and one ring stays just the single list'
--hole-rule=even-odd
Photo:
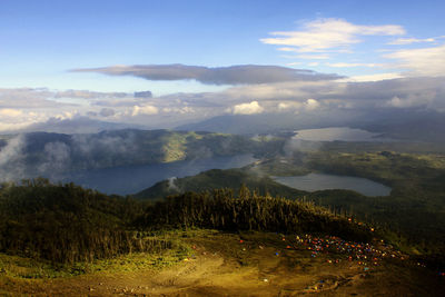
[{"label": "clear blue part of the sky around the upper clouds", "polygon": [[[285,58],[260,39],[273,31],[295,31],[316,19],[344,19],[362,26],[402,26],[407,37],[445,34],[442,1],[22,1],[0,7],[1,87],[48,87],[132,91],[169,88],[212,90],[199,83],[159,83],[137,78],[70,73],[73,68],[113,65],[184,63],[291,65],[340,75],[383,69],[316,66],[317,60]],[[354,53],[329,62],[382,62],[379,49],[393,37],[376,36],[354,44]],[[393,38],[394,39],[394,38]],[[393,47],[394,48],[394,47]],[[294,55],[295,56],[295,55]],[[325,61],[322,61],[325,62]],[[392,69],[393,71],[394,69]]]}]

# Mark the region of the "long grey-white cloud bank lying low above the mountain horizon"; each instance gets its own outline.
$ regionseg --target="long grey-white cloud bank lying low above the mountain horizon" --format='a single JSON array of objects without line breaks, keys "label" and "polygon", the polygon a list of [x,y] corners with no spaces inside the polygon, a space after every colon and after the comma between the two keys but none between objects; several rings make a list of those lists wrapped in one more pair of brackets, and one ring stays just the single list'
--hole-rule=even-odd
[{"label": "long grey-white cloud bank lying low above the mountain horizon", "polygon": [[445,77],[395,77],[382,80],[379,76],[377,81],[362,82],[298,80],[253,83],[221,91],[161,97],[149,91],[0,89],[0,131],[79,133],[123,127],[175,128],[224,115],[263,117],[286,113],[305,117],[308,121],[323,116],[328,122],[345,112],[377,115],[394,109],[445,112]]}]

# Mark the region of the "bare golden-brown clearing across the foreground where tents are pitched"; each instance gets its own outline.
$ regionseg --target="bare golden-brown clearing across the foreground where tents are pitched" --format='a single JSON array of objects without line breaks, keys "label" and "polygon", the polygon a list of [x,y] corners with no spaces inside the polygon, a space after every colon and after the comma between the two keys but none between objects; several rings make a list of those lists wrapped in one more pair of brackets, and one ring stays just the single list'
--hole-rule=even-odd
[{"label": "bare golden-brown clearing across the foreground where tents are pitched", "polygon": [[[186,239],[187,240],[187,239]],[[444,280],[425,268],[387,263],[364,271],[354,261],[244,240],[237,235],[188,239],[194,258],[174,267],[30,281],[3,280],[20,296],[443,296]],[[278,256],[276,255],[278,253]]]}]

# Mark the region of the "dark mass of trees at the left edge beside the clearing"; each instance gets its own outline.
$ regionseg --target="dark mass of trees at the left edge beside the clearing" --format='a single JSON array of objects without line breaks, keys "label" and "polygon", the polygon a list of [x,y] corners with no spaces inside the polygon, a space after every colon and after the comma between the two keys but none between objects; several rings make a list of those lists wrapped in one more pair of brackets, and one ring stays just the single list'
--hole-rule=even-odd
[{"label": "dark mass of trees at the left edge beside the clearing", "polygon": [[141,204],[44,179],[0,190],[0,251],[53,263],[91,261],[168,248],[129,228]]}]

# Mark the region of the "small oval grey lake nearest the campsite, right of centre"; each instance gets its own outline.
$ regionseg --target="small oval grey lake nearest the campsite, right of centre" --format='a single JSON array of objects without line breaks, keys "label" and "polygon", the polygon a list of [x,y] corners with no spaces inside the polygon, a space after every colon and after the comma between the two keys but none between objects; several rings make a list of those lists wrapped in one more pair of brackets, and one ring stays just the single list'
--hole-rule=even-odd
[{"label": "small oval grey lake nearest the campsite, right of centre", "polygon": [[306,191],[346,189],[365,196],[388,196],[390,194],[389,187],[359,177],[309,174],[307,176],[275,177],[274,179],[285,186]]}]

